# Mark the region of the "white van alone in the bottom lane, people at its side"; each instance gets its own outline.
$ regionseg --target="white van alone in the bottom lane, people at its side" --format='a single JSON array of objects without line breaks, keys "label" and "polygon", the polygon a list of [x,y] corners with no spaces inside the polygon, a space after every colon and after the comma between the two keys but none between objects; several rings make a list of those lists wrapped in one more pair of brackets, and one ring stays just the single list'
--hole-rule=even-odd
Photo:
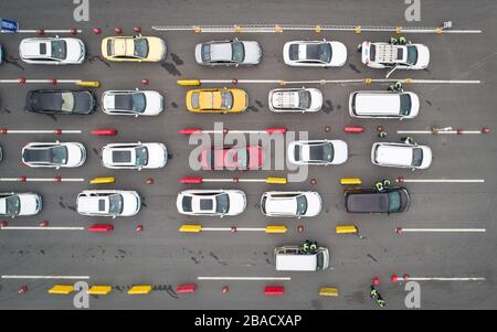
[{"label": "white van alone in the bottom lane, people at its side", "polygon": [[318,247],[316,254],[304,254],[298,246],[274,249],[277,271],[319,271],[328,268],[328,248]]}]

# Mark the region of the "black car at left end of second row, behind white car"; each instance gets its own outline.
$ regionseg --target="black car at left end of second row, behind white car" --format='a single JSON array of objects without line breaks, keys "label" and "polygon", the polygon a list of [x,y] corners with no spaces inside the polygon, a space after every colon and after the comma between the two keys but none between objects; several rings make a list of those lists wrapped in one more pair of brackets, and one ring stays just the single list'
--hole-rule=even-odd
[{"label": "black car at left end of second row, behind white car", "polygon": [[95,106],[95,97],[88,90],[31,90],[25,97],[25,109],[41,114],[86,115]]}]

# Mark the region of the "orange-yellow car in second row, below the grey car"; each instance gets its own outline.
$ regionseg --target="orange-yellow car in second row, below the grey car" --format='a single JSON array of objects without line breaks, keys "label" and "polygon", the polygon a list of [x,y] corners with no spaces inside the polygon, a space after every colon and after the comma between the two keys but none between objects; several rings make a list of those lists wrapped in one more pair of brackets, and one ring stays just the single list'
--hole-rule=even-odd
[{"label": "orange-yellow car in second row, below the grey car", "polygon": [[242,113],[248,96],[240,88],[199,88],[187,93],[187,109],[193,113]]}]

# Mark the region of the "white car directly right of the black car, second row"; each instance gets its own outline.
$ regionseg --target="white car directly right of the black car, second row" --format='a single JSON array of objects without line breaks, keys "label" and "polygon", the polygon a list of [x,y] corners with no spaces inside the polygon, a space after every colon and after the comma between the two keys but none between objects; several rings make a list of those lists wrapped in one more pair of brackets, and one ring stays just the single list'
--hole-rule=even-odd
[{"label": "white car directly right of the black car, second row", "polygon": [[108,115],[157,116],[163,110],[163,97],[151,90],[109,90],[102,95],[102,108]]}]

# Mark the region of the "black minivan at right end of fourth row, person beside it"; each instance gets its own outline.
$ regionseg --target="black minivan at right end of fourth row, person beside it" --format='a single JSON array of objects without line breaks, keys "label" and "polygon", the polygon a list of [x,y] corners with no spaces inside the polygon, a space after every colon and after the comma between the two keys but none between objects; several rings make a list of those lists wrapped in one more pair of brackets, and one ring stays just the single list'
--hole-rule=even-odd
[{"label": "black minivan at right end of fourth row, person beside it", "polygon": [[405,188],[391,188],[382,192],[374,189],[355,189],[346,191],[347,212],[395,213],[409,207],[409,192]]}]

